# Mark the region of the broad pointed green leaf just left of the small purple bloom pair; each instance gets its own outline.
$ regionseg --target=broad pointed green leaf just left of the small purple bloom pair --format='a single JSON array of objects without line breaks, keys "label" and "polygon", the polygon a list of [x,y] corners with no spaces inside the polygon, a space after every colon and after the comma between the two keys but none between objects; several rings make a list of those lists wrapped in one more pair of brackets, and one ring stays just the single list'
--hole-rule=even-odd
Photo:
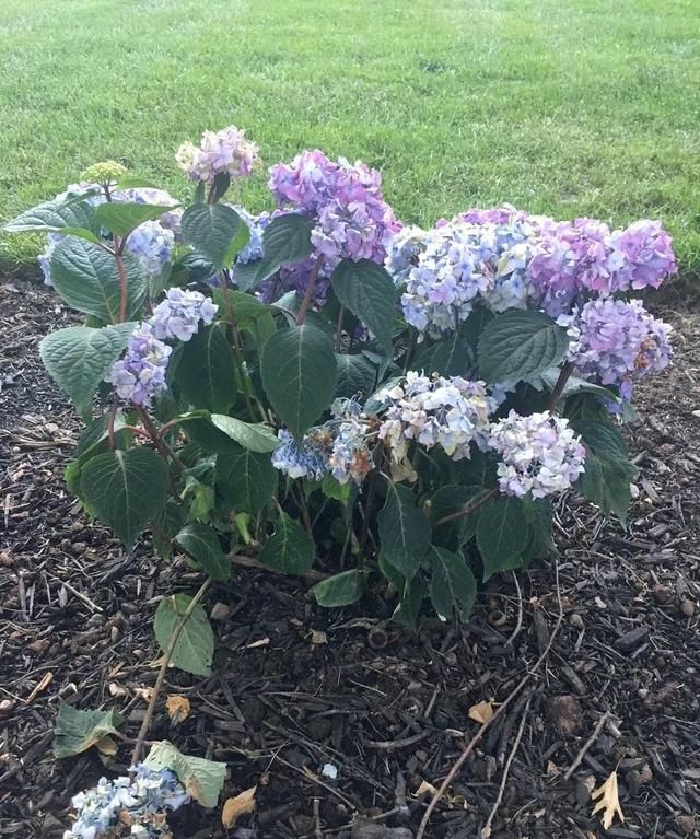
[{"label": "broad pointed green leaf just left of the small purple bloom pair", "polygon": [[127,346],[135,327],[135,323],[102,329],[69,326],[42,340],[39,354],[44,366],[80,413],[90,409],[95,391]]}]

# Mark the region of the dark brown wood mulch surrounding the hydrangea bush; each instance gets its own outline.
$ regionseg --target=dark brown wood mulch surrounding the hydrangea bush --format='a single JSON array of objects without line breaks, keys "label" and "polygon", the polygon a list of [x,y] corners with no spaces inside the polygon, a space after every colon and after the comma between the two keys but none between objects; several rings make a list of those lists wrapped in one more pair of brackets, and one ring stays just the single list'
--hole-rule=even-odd
[{"label": "dark brown wood mulch surrounding the hydrangea bush", "polygon": [[[67,314],[19,279],[0,287],[0,836],[58,837],[70,796],[104,771],[93,754],[54,759],[59,698],[119,709],[136,736],[139,690],[155,680],[155,604],[174,589],[192,591],[197,578],[147,549],[126,556],[88,523],[61,481],[78,423],[37,360],[40,336]],[[527,697],[494,838],[698,836],[700,316],[666,314],[678,329],[677,359],[640,388],[641,419],[629,429],[641,469],[630,528],[573,498],[562,506],[562,627],[428,837],[479,836]],[[151,736],[226,761],[226,795],[258,785],[256,814],[232,831],[240,839],[410,837],[428,801],[415,793],[440,784],[476,731],[469,708],[503,701],[552,632],[553,564],[520,582],[522,598],[511,578],[489,586],[466,627],[427,619],[411,636],[388,622],[393,604],[381,590],[358,608],[324,611],[294,580],[237,570],[209,603],[225,606],[215,607],[213,675],[173,672],[168,694],[187,696],[191,714],[174,729],[161,707]],[[109,771],[122,771],[129,751]],[[324,776],[327,764],[337,780]],[[605,832],[591,817],[590,791],[616,768],[626,821]],[[359,814],[373,820],[358,827]],[[196,806],[176,814],[173,828],[177,839],[225,835],[219,813]]]}]

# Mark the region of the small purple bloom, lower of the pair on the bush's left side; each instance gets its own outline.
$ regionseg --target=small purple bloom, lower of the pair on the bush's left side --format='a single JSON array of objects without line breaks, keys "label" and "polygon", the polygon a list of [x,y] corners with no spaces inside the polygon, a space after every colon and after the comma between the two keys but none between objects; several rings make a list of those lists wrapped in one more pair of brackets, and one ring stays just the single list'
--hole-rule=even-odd
[{"label": "small purple bloom, lower of the pair on the bush's left side", "polygon": [[126,353],[115,362],[105,381],[113,384],[122,399],[148,406],[167,384],[165,371],[172,348],[155,337],[149,323],[138,326]]}]

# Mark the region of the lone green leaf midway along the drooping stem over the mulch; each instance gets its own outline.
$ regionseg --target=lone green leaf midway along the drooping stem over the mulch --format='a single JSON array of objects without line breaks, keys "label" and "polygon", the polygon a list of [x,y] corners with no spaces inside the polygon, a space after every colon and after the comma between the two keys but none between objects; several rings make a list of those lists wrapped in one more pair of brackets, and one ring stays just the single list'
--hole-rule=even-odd
[{"label": "lone green leaf midway along the drooping stem over the mulch", "polygon": [[[188,594],[171,594],[159,603],[153,629],[163,651],[167,650],[175,627],[191,602],[192,598]],[[213,656],[214,633],[207,613],[198,603],[175,642],[171,664],[196,676],[209,676]]]}]

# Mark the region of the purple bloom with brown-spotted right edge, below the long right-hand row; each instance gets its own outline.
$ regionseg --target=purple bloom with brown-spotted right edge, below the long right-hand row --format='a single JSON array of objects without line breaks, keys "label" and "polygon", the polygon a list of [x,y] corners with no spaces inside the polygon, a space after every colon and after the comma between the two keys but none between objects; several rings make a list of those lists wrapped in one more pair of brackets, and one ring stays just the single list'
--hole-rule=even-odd
[{"label": "purple bloom with brown-spotted right edge, below the long right-hand row", "polygon": [[631,398],[635,381],[670,361],[672,327],[653,317],[641,300],[591,300],[559,323],[569,327],[569,361],[578,372],[618,386],[625,399]]}]

